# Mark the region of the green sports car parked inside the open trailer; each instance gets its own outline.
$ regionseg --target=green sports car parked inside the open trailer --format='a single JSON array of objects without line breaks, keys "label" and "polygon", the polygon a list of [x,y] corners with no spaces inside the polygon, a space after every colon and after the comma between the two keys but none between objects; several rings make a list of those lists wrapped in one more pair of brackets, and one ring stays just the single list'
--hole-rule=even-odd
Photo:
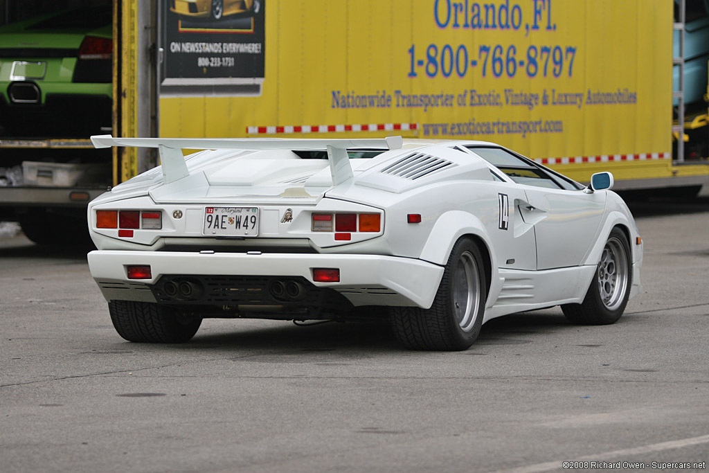
[{"label": "green sports car parked inside the open trailer", "polygon": [[86,138],[111,127],[111,8],[0,28],[0,137]]}]

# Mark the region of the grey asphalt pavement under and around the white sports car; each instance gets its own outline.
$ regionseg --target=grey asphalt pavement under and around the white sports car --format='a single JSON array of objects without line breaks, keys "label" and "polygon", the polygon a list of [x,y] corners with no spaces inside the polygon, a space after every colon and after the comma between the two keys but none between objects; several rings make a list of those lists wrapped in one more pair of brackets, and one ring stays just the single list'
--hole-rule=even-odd
[{"label": "grey asphalt pavement under and around the white sports car", "polygon": [[386,323],[128,343],[85,248],[5,226],[0,471],[703,471],[709,197],[631,206],[643,289],[618,323],[507,316],[464,352],[403,350]]}]

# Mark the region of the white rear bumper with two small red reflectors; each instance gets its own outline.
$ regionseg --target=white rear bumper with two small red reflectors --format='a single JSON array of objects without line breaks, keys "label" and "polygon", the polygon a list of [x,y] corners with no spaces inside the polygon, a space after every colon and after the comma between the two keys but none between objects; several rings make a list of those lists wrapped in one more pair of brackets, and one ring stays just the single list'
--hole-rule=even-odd
[{"label": "white rear bumper with two small red reflectors", "polygon": [[[302,277],[334,289],[354,306],[429,308],[443,267],[412,258],[381,255],[92,251],[91,276],[107,301],[155,302],[151,287],[166,274],[189,276]],[[128,266],[149,265],[151,279],[128,279]],[[340,269],[340,282],[313,281],[313,268]]]}]

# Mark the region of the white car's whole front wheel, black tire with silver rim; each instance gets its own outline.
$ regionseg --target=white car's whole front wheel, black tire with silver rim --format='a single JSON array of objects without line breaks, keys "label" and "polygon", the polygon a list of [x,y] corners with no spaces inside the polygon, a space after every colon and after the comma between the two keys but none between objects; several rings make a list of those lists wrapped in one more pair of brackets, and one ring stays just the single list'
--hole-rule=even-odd
[{"label": "white car's whole front wheel, black tire with silver rim", "polygon": [[584,325],[615,323],[625,311],[631,282],[630,244],[622,230],[613,228],[584,301],[564,304],[564,316],[571,322]]}]

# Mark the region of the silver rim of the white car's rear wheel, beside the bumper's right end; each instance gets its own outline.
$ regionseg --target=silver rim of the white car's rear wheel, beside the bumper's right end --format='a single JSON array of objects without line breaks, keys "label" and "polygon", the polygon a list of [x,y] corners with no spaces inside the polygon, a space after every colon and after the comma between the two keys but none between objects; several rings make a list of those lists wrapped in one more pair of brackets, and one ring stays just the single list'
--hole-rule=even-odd
[{"label": "silver rim of the white car's rear wheel, beside the bumper's right end", "polygon": [[467,251],[460,255],[460,260],[455,267],[453,304],[455,320],[465,332],[473,327],[479,313],[478,274],[478,266],[473,255]]}]

